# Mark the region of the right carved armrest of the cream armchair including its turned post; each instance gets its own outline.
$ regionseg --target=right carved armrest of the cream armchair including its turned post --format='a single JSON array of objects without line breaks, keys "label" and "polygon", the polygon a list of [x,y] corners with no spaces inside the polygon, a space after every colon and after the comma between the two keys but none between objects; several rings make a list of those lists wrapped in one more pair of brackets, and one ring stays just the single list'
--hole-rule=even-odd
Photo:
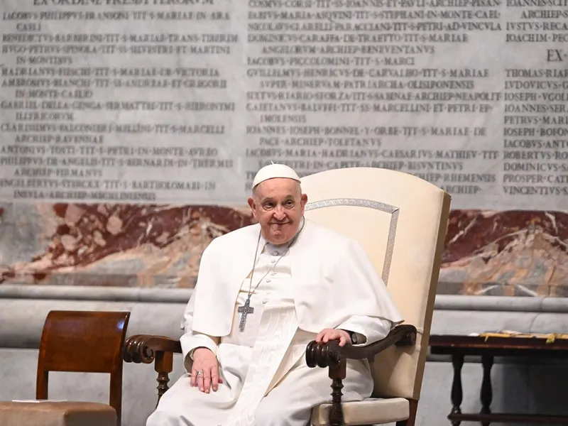
[{"label": "right carved armrest of the cream armchair including its turned post", "polygon": [[306,364],[310,368],[329,367],[329,378],[332,379],[332,408],[329,410],[329,424],[343,425],[342,380],[346,376],[347,359],[368,359],[374,357],[391,346],[414,346],[416,343],[416,327],[401,324],[391,330],[382,340],[366,346],[339,346],[337,340],[327,343],[307,344]]}]

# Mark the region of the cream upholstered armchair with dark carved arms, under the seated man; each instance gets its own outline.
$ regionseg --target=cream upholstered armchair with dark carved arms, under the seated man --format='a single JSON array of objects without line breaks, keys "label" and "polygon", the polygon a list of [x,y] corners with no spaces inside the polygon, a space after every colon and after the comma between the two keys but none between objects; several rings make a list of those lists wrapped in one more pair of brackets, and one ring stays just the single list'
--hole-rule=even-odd
[{"label": "cream upholstered armchair with dark carved arms, under the seated man", "polygon": [[[302,179],[307,219],[359,241],[385,281],[405,322],[385,339],[339,348],[311,342],[308,366],[329,368],[332,401],[312,411],[312,426],[413,426],[426,362],[430,323],[449,215],[449,195],[406,173],[378,168],[328,170]],[[323,296],[322,296],[323,297]],[[180,342],[136,335],[126,342],[127,362],[155,361],[158,400],[168,389]],[[370,359],[373,398],[341,402],[346,359]]]}]

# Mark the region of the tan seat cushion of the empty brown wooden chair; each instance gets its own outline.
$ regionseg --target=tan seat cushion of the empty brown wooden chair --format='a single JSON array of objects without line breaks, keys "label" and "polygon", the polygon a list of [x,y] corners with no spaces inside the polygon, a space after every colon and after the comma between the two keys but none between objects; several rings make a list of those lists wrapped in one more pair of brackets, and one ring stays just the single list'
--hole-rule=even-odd
[{"label": "tan seat cushion of the empty brown wooden chair", "polygon": [[0,402],[0,426],[116,426],[110,405],[82,402]]}]

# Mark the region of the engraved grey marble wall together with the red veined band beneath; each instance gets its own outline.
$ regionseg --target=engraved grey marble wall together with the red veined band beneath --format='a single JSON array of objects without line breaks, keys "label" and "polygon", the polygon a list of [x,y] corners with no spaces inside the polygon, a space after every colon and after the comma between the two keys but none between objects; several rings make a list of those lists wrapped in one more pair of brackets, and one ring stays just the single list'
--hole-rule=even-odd
[{"label": "engraved grey marble wall together with the red veined band beneath", "polygon": [[0,283],[191,288],[275,160],[452,194],[440,294],[564,297],[555,10],[466,3],[0,1]]}]

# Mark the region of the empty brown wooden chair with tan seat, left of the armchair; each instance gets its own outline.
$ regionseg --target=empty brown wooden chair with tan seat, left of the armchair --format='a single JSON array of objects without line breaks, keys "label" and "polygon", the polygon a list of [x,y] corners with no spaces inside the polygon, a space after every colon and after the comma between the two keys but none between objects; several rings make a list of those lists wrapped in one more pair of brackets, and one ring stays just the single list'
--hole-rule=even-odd
[{"label": "empty brown wooden chair with tan seat, left of the armchair", "polygon": [[48,400],[49,371],[110,373],[109,405],[0,403],[1,425],[121,425],[122,349],[130,312],[50,311],[41,335],[35,398]]}]

